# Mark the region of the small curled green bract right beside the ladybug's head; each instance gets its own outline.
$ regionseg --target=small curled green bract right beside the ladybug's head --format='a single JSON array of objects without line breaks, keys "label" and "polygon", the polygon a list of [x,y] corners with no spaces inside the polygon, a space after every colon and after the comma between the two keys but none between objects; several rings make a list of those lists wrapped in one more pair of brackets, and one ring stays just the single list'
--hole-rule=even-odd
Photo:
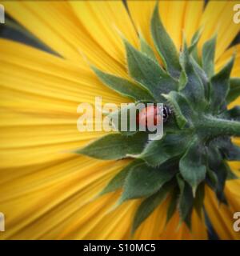
[{"label": "small curled green bract right beside the ladybug's head", "polygon": [[[188,116],[191,112],[190,105],[188,104],[186,98],[184,95],[175,91],[171,91],[170,94],[163,94],[162,96],[166,98],[169,105],[173,108],[174,117],[176,118],[178,127],[182,129],[188,122],[185,114]],[[182,110],[184,111],[184,114],[182,113]]]}]

